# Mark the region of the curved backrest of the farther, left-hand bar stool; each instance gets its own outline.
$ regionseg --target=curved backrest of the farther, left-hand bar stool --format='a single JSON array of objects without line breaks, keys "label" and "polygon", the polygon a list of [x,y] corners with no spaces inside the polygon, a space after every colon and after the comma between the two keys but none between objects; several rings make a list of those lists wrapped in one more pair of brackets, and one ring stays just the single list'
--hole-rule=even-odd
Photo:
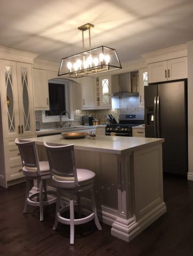
[{"label": "curved backrest of the farther, left-hand bar stool", "polygon": [[[18,139],[15,139],[15,144],[19,148],[23,167],[29,168],[28,171],[23,171],[23,174],[27,176],[41,176],[35,141],[19,142]],[[30,171],[30,168],[35,168],[37,171]]]}]

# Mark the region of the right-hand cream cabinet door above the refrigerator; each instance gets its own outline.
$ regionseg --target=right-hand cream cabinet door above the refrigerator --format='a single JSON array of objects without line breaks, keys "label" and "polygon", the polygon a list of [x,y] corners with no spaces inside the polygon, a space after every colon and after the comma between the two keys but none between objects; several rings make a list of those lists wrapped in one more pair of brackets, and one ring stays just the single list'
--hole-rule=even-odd
[{"label": "right-hand cream cabinet door above the refrigerator", "polygon": [[187,57],[168,60],[167,62],[168,81],[183,79],[188,77],[188,60]]}]

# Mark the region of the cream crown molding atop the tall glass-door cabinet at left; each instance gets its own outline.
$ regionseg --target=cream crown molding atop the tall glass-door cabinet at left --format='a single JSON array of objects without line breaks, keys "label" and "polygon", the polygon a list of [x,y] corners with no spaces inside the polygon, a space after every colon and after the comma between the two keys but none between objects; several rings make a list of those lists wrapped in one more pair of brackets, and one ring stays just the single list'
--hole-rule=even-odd
[{"label": "cream crown molding atop the tall glass-door cabinet at left", "polygon": [[13,49],[9,47],[0,46],[0,59],[13,60],[26,63],[34,63],[34,59],[38,53],[27,52],[23,50]]}]

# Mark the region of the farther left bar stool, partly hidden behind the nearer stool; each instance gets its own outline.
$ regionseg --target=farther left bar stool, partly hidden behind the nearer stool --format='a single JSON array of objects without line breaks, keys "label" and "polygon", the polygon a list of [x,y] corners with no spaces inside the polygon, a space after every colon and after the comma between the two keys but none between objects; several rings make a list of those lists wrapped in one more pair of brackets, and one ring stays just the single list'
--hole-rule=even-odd
[{"label": "farther left bar stool, partly hidden behind the nearer stool", "polygon": [[[51,178],[49,162],[39,162],[35,141],[19,142],[18,139],[15,139],[15,144],[20,151],[23,175],[26,176],[26,202],[23,213],[26,213],[28,204],[39,206],[40,220],[43,221],[43,206],[53,204],[57,201],[55,191],[49,191],[46,188],[46,179]],[[38,181],[39,192],[29,196],[30,180]],[[43,195],[45,201],[43,201]],[[55,197],[47,200],[47,195],[55,195]],[[31,200],[35,196],[39,196],[39,202]]]}]

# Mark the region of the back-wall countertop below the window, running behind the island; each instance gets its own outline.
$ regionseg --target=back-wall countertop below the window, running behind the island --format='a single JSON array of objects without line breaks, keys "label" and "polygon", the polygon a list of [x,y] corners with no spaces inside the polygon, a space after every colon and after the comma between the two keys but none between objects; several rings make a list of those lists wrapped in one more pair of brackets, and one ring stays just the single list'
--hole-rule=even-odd
[{"label": "back-wall countertop below the window, running behind the island", "polygon": [[37,135],[41,134],[48,134],[48,133],[57,133],[57,132],[69,132],[69,131],[77,131],[77,130],[87,130],[87,129],[95,129],[97,127],[106,127],[106,125],[98,124],[98,125],[79,125],[79,126],[72,126],[70,127],[63,127],[63,128],[53,128],[53,129],[42,129],[36,131]]}]

